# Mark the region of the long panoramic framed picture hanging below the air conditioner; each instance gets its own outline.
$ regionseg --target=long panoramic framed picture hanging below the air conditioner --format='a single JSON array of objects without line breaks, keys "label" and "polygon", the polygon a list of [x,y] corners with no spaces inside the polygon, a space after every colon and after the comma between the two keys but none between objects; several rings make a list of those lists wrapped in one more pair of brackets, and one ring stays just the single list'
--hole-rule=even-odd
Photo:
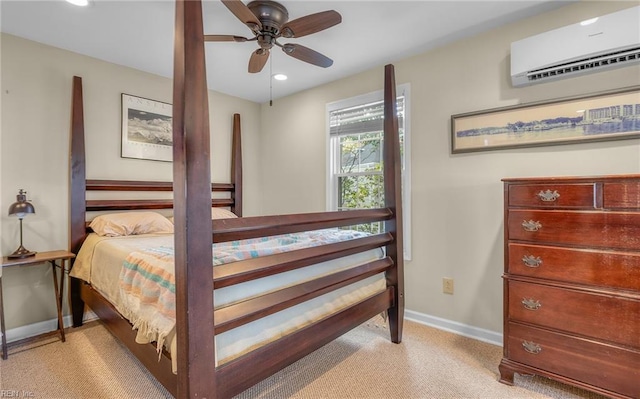
[{"label": "long panoramic framed picture hanging below the air conditioner", "polygon": [[451,116],[451,152],[640,137],[640,86]]}]

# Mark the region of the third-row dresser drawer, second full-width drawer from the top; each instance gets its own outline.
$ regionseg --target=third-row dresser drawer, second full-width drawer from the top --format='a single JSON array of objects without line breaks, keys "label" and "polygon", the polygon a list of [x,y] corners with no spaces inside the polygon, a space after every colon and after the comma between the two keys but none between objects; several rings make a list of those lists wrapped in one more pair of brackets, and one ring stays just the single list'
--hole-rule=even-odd
[{"label": "third-row dresser drawer, second full-width drawer from the top", "polygon": [[640,252],[508,244],[509,274],[640,291]]}]

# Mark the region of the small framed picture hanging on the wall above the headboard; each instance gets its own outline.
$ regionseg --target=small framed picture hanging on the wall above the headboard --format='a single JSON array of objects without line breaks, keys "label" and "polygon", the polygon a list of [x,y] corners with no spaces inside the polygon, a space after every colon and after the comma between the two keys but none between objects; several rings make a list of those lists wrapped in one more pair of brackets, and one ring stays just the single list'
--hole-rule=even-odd
[{"label": "small framed picture hanging on the wall above the headboard", "polygon": [[171,104],[122,94],[122,157],[171,162]]}]

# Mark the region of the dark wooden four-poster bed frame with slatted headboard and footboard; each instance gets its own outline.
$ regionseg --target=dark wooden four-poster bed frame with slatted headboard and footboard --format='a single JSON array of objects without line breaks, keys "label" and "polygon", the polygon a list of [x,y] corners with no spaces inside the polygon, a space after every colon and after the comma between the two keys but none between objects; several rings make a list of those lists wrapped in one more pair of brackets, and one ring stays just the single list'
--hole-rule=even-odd
[{"label": "dark wooden four-poster bed frame with slatted headboard and footboard", "polygon": [[[402,248],[402,200],[400,151],[396,112],[395,77],[392,65],[385,67],[384,118],[384,182],[385,207],[349,212],[322,212],[297,215],[242,217],[211,222],[212,184],[210,179],[209,116],[207,85],[204,70],[204,36],[200,1],[176,1],[175,67],[173,102],[173,183],[123,182],[86,180],[84,158],[84,127],[82,80],[74,78],[71,128],[71,250],[77,252],[86,237],[88,210],[149,209],[168,204],[149,201],[87,201],[88,189],[103,190],[164,190],[172,185],[175,216],[176,268],[176,334],[178,373],[171,373],[171,361],[166,353],[158,362],[155,345],[135,343],[135,331],[113,306],[88,284],[72,279],[74,324],[82,320],[83,302],[105,322],[112,333],[141,360],[156,378],[180,398],[227,398],[242,392],[296,360],[360,325],[380,312],[389,316],[391,340],[402,339],[404,317],[404,276]],[[229,192],[224,205],[238,213],[241,206],[240,127],[234,117],[236,148],[233,151],[235,169],[231,183],[213,185]],[[149,207],[148,205],[151,205]],[[213,202],[216,205],[216,202]],[[293,251],[265,258],[250,259],[223,266],[211,278],[212,242],[262,237],[274,234],[352,226],[383,221],[382,234]],[[214,312],[213,288],[276,275],[326,260],[337,259],[375,247],[383,247],[386,257],[319,278],[269,295],[269,300],[254,300],[250,307],[226,307],[225,320]],[[200,267],[199,267],[200,266]],[[216,268],[218,269],[218,268]],[[387,288],[353,306],[290,333],[237,359],[216,367],[214,336],[226,328],[248,323],[279,310],[318,297],[351,282],[384,272]],[[250,372],[247,372],[250,370]]]}]

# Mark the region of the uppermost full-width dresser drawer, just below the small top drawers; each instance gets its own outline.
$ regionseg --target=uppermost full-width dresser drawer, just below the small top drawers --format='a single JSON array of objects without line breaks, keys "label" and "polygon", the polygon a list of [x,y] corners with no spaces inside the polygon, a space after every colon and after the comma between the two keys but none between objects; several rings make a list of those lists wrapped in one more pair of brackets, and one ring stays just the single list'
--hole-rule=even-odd
[{"label": "uppermost full-width dresser drawer, just below the small top drawers", "polygon": [[508,213],[510,240],[600,248],[640,248],[640,212],[519,210]]}]

